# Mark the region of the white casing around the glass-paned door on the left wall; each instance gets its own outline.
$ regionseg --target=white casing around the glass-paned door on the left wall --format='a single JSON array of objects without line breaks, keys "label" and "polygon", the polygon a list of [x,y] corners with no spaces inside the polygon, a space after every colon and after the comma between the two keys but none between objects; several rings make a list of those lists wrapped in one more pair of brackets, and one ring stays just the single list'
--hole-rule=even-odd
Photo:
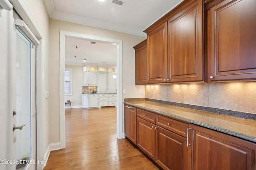
[{"label": "white casing around the glass-paned door on the left wall", "polygon": [[[6,0],[4,0],[6,1]],[[45,147],[48,146],[46,143],[46,138],[48,138],[48,132],[45,127],[46,120],[46,109],[45,109],[45,40],[44,34],[42,33],[38,23],[36,22],[32,12],[28,8],[25,0],[9,0],[16,12],[20,15],[22,20],[28,25],[28,27],[32,30],[33,34],[40,41],[40,45],[36,47],[36,160],[45,161]],[[14,63],[15,64],[15,63]],[[47,141],[48,142],[48,141]],[[37,169],[43,169],[44,164],[37,164]]]}]

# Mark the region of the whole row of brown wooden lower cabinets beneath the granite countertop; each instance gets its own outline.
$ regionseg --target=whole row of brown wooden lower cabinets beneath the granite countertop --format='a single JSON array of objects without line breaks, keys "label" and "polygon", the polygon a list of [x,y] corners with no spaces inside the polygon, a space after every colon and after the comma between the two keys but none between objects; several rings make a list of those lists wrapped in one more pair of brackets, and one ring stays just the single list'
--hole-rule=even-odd
[{"label": "whole row of brown wooden lower cabinets beneath the granite countertop", "polygon": [[256,170],[256,143],[136,107],[125,108],[126,137],[133,136],[136,145],[165,170]]}]

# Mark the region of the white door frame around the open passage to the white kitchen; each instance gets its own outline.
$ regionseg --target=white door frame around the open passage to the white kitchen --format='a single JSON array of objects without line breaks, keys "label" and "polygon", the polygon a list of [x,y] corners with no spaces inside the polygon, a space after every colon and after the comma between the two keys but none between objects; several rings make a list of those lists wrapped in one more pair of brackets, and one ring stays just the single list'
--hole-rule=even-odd
[{"label": "white door frame around the open passage to the white kitchen", "polygon": [[118,139],[122,136],[122,41],[105,37],[97,37],[81,33],[60,31],[60,62],[59,62],[59,93],[60,93],[60,149],[66,147],[65,141],[65,107],[64,107],[64,71],[65,71],[65,38],[79,37],[96,41],[104,41],[117,44],[117,111],[116,111],[116,136]]}]

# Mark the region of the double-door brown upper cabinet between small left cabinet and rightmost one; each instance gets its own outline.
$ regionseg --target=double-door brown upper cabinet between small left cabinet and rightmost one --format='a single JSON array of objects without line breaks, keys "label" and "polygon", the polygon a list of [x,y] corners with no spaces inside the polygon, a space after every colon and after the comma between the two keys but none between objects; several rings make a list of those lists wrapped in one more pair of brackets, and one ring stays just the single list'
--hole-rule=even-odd
[{"label": "double-door brown upper cabinet between small left cabinet and rightmost one", "polygon": [[144,32],[148,83],[203,81],[202,0],[187,0]]}]

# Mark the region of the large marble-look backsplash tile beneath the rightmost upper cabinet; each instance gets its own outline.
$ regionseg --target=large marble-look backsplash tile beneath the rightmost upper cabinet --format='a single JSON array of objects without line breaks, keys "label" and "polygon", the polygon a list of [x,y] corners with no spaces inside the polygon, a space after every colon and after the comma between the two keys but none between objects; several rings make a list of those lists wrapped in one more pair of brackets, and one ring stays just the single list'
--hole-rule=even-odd
[{"label": "large marble-look backsplash tile beneath the rightmost upper cabinet", "polygon": [[249,86],[247,83],[210,84],[209,106],[250,113]]}]

